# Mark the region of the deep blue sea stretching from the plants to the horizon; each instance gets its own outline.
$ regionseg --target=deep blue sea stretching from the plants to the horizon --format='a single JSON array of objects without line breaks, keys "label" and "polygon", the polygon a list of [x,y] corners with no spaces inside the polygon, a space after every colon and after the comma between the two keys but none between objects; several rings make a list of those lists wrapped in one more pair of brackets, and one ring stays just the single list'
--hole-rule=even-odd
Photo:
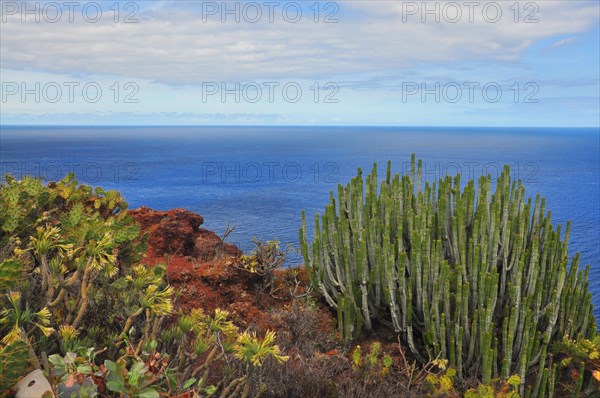
[{"label": "deep blue sea stretching from the plants to the horizon", "polygon": [[[590,264],[600,315],[600,131],[565,128],[2,127],[1,173],[117,189],[130,207],[186,208],[243,250],[252,238],[298,247],[301,211],[321,212],[329,191],[373,162],[384,174],[422,159],[425,177],[478,178],[504,164],[529,196],[546,197],[554,223],[572,221],[570,253]],[[300,263],[298,255],[290,263]]]}]

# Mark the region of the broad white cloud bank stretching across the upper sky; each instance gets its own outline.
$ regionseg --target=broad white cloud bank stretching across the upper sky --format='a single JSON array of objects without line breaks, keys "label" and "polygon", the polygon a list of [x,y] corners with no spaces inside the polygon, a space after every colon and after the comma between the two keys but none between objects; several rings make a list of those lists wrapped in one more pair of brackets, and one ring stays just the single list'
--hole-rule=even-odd
[{"label": "broad white cloud bank stretching across the upper sky", "polygon": [[[1,24],[0,58],[4,69],[167,84],[325,79],[422,62],[516,61],[536,41],[577,34],[598,18],[596,2],[545,1],[537,2],[538,23],[515,23],[509,3],[503,3],[497,23],[477,13],[474,23],[466,15],[455,24],[422,23],[420,15],[404,23],[402,2],[390,1],[339,2],[339,23],[333,24],[314,23],[310,14],[296,24],[281,17],[269,23],[264,15],[256,24],[221,23],[216,17],[204,23],[198,7],[169,2],[140,13],[138,24],[115,24],[111,18],[21,23],[14,15]],[[531,11],[521,10],[519,18]]]}]

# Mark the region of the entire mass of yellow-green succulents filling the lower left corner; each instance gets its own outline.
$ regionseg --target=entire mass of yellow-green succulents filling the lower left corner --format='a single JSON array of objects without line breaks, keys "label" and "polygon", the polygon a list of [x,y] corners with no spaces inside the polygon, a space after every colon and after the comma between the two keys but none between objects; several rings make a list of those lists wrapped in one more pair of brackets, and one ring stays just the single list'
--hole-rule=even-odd
[{"label": "entire mass of yellow-green succulents filling the lower left corner", "polygon": [[126,209],[73,175],[0,186],[0,395],[42,368],[55,394],[247,397],[265,361],[287,360],[227,311],[176,312]]}]

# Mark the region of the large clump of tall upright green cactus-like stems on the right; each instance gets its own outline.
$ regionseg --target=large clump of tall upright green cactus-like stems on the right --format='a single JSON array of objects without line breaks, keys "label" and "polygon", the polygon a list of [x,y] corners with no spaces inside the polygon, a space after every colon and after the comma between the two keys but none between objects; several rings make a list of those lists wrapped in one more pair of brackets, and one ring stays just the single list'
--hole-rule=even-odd
[{"label": "large clump of tall upright green cactus-like stems on the right", "polygon": [[[415,167],[416,166],[416,167]],[[554,228],[545,200],[526,198],[508,166],[469,181],[432,185],[411,173],[379,183],[377,167],[338,186],[300,241],[315,289],[337,310],[342,337],[373,328],[401,334],[425,363],[441,355],[460,379],[520,377],[532,397],[554,385],[551,344],[596,335],[589,267],[568,263],[569,228]],[[379,186],[379,189],[378,189]],[[529,378],[529,379],[528,379]],[[528,380],[526,382],[526,380]]]}]

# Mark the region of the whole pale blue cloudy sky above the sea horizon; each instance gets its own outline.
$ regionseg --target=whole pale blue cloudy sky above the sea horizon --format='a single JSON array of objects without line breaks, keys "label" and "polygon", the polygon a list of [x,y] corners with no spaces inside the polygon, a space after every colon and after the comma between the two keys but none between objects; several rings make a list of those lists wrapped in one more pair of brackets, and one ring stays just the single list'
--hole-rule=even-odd
[{"label": "whole pale blue cloudy sky above the sea horizon", "polygon": [[0,1],[3,125],[600,126],[600,2]]}]

